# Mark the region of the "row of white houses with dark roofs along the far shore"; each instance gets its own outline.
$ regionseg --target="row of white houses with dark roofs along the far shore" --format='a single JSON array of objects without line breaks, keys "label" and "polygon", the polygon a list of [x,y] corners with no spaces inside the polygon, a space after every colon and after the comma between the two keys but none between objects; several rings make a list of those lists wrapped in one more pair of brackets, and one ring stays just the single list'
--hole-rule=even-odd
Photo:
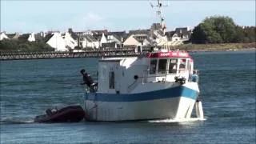
[{"label": "row of white houses with dark roofs along the far shore", "polygon": [[65,33],[59,31],[40,32],[38,34],[0,34],[2,39],[18,39],[28,42],[46,42],[55,50],[74,50],[74,49],[104,49],[122,48],[126,46],[149,46],[153,43],[158,46],[180,45],[190,39],[192,30],[189,27],[176,28],[162,34],[160,23],[154,23],[147,30],[130,30],[111,32],[108,30],[86,30],[74,32],[72,29]]}]

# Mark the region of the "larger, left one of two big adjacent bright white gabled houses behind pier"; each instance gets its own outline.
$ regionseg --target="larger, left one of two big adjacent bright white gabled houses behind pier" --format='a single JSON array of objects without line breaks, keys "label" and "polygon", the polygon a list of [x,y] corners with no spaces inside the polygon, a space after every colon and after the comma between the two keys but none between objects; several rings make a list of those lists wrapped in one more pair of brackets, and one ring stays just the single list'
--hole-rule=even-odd
[{"label": "larger, left one of two big adjacent bright white gabled houses behind pier", "polygon": [[66,42],[60,33],[52,33],[46,35],[46,43],[55,48],[56,51],[66,51]]}]

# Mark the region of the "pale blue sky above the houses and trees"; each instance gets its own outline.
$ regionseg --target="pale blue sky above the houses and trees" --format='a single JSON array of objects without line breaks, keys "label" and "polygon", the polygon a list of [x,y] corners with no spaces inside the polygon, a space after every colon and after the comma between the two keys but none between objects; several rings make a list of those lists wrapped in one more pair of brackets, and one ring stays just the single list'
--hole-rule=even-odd
[{"label": "pale blue sky above the houses and trees", "polygon": [[[151,1],[156,4],[156,1]],[[168,3],[168,2],[163,2]],[[255,1],[170,1],[164,16],[167,30],[196,26],[206,17],[225,15],[238,25],[255,26]],[[7,33],[46,30],[75,31],[149,28],[159,22],[155,10],[144,1],[7,1],[1,0],[1,31]]]}]

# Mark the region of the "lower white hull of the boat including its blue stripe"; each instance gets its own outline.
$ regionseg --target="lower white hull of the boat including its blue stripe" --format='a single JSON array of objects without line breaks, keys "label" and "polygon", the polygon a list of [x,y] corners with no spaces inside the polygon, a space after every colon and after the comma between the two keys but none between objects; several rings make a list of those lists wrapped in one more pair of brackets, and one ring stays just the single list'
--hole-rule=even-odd
[{"label": "lower white hull of the boat including its blue stripe", "polygon": [[[169,88],[166,94],[158,90],[158,95],[86,95],[86,120],[90,121],[129,121],[165,118],[190,118],[194,103],[198,97],[197,90],[186,86]],[[178,91],[183,90],[183,91]],[[168,94],[172,93],[173,94]],[[182,95],[177,95],[182,94]],[[119,98],[121,97],[121,98]],[[110,98],[110,99],[108,99]],[[147,99],[148,98],[148,99]]]}]

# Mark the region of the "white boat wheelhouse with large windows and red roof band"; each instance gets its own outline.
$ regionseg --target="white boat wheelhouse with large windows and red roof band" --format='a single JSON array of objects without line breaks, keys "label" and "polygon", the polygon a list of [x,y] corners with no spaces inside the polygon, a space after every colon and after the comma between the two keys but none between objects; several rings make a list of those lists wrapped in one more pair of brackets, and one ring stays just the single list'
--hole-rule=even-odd
[{"label": "white boat wheelhouse with large windows and red roof band", "polygon": [[150,81],[177,81],[177,78],[189,80],[193,73],[194,62],[186,51],[167,51],[150,53]]}]

